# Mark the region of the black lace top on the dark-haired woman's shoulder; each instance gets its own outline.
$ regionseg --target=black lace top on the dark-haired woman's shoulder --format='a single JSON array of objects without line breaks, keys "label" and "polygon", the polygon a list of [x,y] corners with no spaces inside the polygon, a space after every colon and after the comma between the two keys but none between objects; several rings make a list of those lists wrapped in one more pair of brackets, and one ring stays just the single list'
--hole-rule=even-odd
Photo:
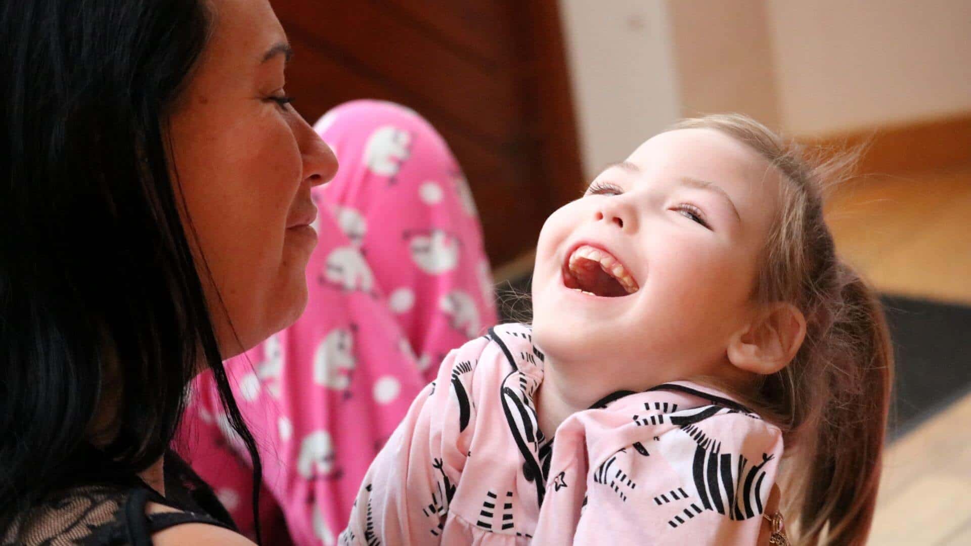
[{"label": "black lace top on the dark-haired woman's shoulder", "polygon": [[[86,485],[50,495],[0,530],[0,544],[147,546],[152,533],[185,523],[237,530],[213,490],[175,452],[165,455],[164,471],[166,496],[137,478],[128,488]],[[146,514],[150,501],[180,511]]]}]

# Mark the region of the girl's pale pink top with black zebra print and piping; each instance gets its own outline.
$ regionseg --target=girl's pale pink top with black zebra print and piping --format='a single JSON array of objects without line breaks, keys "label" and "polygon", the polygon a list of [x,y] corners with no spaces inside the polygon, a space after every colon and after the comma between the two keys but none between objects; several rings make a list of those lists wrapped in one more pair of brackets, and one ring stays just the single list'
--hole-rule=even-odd
[{"label": "girl's pale pink top with black zebra print and piping", "polygon": [[452,351],[371,464],[341,544],[754,544],[783,437],[687,382],[616,392],[552,438],[543,353],[505,324]]}]

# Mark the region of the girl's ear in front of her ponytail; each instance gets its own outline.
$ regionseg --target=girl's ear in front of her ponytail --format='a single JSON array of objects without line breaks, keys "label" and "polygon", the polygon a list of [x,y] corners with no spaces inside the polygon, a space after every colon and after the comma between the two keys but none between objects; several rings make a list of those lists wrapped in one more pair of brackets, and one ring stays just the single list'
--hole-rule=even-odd
[{"label": "girl's ear in front of her ponytail", "polygon": [[795,357],[806,337],[806,319],[790,303],[773,303],[728,342],[728,360],[745,371],[769,375]]}]

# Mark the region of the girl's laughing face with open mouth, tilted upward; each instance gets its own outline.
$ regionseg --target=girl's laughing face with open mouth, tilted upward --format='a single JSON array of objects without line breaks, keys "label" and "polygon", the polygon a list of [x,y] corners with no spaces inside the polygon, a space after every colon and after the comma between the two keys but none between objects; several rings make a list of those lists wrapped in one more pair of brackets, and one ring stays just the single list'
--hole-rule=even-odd
[{"label": "girl's laughing face with open mouth, tilted upward", "polygon": [[598,392],[720,376],[780,181],[710,129],[661,133],[603,171],[540,233],[533,334],[552,365]]}]

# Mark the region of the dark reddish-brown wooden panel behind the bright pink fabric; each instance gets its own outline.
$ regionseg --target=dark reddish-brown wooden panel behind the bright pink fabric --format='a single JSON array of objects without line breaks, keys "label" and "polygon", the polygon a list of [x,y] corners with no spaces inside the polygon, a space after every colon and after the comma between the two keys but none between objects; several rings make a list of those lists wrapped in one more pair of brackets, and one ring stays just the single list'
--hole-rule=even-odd
[{"label": "dark reddish-brown wooden panel behind the bright pink fabric", "polygon": [[[555,0],[279,0],[287,91],[312,122],[356,98],[409,106],[449,143],[500,265],[582,180]],[[565,189],[568,188],[568,189]]]}]

